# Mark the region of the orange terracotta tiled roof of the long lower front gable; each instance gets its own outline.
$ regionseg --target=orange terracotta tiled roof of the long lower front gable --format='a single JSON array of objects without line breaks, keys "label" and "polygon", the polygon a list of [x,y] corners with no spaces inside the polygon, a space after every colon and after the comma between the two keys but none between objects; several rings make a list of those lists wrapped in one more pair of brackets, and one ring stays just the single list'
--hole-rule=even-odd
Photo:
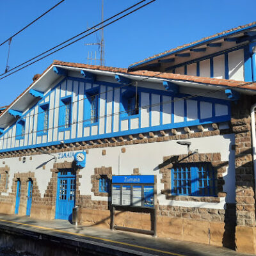
[{"label": "orange terracotta tiled roof of the long lower front gable", "polygon": [[[187,76],[187,75],[180,75],[180,74],[172,74],[172,73],[161,73],[161,72],[153,72],[148,70],[138,70],[138,71],[129,71],[128,68],[115,68],[115,67],[104,67],[104,66],[97,66],[97,65],[88,65],[83,63],[72,63],[72,62],[65,62],[65,61],[58,61],[54,60],[53,63],[44,70],[41,76],[44,75],[49,68],[53,65],[60,65],[63,67],[77,67],[77,68],[88,68],[92,70],[100,70],[100,71],[108,71],[108,72],[119,72],[123,74],[131,74],[134,76],[145,76],[145,77],[156,77],[161,79],[172,79],[177,81],[189,81],[195,83],[202,83],[202,84],[212,84],[212,85],[219,85],[219,86],[230,86],[232,88],[243,88],[248,90],[255,90],[256,91],[256,83],[244,82],[244,81],[235,81],[235,80],[227,80],[227,79],[218,79],[218,78],[209,78],[209,77],[198,77],[198,76]],[[37,80],[37,79],[36,79]],[[22,92],[13,102],[7,106],[10,107],[12,104],[17,101],[33,84],[36,82],[33,81],[24,92]],[[8,108],[4,109],[4,111],[0,114],[3,115],[8,110]]]}]

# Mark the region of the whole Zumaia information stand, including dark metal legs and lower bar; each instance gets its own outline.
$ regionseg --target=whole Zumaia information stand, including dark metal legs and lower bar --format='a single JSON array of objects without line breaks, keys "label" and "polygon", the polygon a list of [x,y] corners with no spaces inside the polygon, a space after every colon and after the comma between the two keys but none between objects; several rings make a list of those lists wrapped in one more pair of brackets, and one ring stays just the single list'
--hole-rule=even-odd
[{"label": "whole Zumaia information stand, including dark metal legs and lower bar", "polygon": [[[115,225],[115,210],[150,213],[151,230]],[[125,230],[157,236],[156,175],[112,177],[111,230]]]}]

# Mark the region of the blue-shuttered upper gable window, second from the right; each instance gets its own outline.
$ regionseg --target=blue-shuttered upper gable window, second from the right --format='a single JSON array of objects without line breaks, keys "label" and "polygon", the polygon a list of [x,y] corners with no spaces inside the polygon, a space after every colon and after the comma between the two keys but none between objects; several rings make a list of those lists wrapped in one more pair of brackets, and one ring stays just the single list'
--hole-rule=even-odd
[{"label": "blue-shuttered upper gable window, second from the right", "polygon": [[99,86],[86,90],[84,99],[84,124],[99,122]]}]

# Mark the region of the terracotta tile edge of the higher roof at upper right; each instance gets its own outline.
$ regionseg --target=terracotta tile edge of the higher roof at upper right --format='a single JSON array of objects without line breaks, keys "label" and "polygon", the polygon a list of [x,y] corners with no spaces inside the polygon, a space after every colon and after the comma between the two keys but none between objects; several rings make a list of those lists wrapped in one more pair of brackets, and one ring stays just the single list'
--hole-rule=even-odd
[{"label": "terracotta tile edge of the higher roof at upper right", "polygon": [[145,58],[144,60],[141,60],[141,61],[138,61],[136,63],[133,63],[133,64],[129,65],[129,67],[131,67],[133,65],[138,65],[138,64],[143,63],[145,61],[150,61],[150,60],[152,60],[154,58],[159,58],[159,57],[164,56],[166,54],[172,54],[172,52],[182,51],[182,50],[184,50],[184,49],[186,49],[188,47],[195,46],[195,45],[200,44],[200,43],[202,43],[204,41],[209,41],[209,40],[217,39],[220,36],[225,36],[227,34],[229,35],[229,33],[235,33],[235,32],[237,32],[239,30],[250,28],[250,27],[252,27],[254,25],[256,25],[256,22],[252,22],[252,23],[249,23],[249,24],[246,24],[246,25],[243,25],[243,26],[238,26],[237,28],[232,28],[232,29],[229,29],[229,30],[225,30],[223,32],[217,33],[217,34],[212,35],[212,36],[204,37],[204,38],[202,38],[200,40],[197,40],[195,42],[192,42],[192,43],[189,43],[189,44],[184,44],[184,45],[178,46],[176,48],[170,49],[168,51],[164,51],[164,52],[155,54],[154,56],[150,56],[148,58]]}]

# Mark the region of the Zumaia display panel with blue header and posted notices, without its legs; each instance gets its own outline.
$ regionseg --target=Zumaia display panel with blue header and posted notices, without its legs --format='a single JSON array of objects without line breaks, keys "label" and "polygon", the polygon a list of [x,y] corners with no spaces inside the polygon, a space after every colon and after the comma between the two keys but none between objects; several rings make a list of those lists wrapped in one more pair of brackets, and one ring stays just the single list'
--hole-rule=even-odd
[{"label": "Zumaia display panel with blue header and posted notices, without its legs", "polygon": [[112,205],[154,208],[155,175],[112,177]]}]

